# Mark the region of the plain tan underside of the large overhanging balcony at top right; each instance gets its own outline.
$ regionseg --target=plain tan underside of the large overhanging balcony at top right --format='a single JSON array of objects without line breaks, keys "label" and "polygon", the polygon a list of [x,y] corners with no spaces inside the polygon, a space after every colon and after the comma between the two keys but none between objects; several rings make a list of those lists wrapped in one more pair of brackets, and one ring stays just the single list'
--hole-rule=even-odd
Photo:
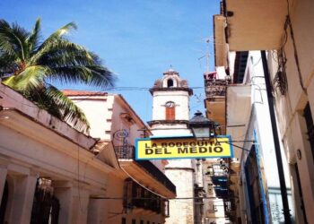
[{"label": "plain tan underside of the large overhanging balcony at top right", "polygon": [[[231,51],[278,49],[287,14],[285,0],[225,0]],[[271,30],[271,31],[269,31]]]}]

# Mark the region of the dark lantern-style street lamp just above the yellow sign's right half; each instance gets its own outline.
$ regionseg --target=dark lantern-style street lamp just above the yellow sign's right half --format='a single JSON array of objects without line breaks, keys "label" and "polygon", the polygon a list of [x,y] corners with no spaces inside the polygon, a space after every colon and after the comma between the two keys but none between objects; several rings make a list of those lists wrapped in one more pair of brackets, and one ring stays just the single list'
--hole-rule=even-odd
[{"label": "dark lantern-style street lamp just above the yellow sign's right half", "polygon": [[214,137],[215,134],[214,121],[207,119],[199,110],[189,120],[188,128],[196,139],[208,139]]}]

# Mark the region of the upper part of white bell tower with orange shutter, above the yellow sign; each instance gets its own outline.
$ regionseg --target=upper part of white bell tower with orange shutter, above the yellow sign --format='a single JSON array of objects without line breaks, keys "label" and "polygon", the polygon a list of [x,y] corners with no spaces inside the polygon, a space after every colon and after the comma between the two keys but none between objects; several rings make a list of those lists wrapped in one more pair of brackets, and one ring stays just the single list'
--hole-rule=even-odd
[{"label": "upper part of white bell tower with orange shutter, above the yellow sign", "polygon": [[150,89],[153,96],[153,120],[148,124],[157,136],[188,135],[189,96],[193,90],[179,73],[169,69],[163,77],[154,82]]}]

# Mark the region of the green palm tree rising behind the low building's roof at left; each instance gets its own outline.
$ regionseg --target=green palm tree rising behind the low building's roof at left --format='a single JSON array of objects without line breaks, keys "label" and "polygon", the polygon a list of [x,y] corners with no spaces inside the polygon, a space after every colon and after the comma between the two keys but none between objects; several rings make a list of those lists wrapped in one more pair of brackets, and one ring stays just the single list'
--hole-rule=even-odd
[{"label": "green palm tree rising behind the low building's roof at left", "polygon": [[40,20],[31,32],[0,20],[0,78],[13,90],[81,131],[89,127],[83,111],[51,82],[84,83],[97,88],[113,85],[115,76],[99,56],[66,39],[74,22],[40,38]]}]

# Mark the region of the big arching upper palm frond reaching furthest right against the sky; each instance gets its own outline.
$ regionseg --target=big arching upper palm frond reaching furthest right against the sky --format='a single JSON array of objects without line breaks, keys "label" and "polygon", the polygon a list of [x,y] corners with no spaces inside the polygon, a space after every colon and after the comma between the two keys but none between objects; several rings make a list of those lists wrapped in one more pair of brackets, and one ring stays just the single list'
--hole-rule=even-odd
[{"label": "big arching upper palm frond reaching furthest right against the sky", "polygon": [[113,86],[115,75],[101,65],[100,58],[67,39],[55,39],[31,57],[31,64],[51,68],[49,81],[81,82],[99,88]]}]

